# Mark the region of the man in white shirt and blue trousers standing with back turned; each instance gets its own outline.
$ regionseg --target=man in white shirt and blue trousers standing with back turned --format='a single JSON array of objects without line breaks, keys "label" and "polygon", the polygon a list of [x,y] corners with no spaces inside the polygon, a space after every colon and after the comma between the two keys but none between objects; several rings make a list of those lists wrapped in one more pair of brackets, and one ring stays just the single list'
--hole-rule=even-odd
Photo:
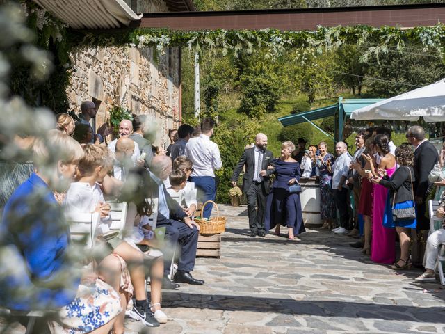
[{"label": "man in white shirt and blue trousers standing with back turned", "polygon": [[[204,118],[201,122],[201,131],[199,137],[191,138],[186,144],[186,156],[193,162],[193,173],[191,182],[195,182],[198,189],[197,200],[206,202],[215,200],[216,182],[214,170],[223,166],[220,157],[220,150],[216,143],[210,140],[213,135],[215,122],[211,118]],[[204,207],[202,216],[209,218],[213,205]]]}]

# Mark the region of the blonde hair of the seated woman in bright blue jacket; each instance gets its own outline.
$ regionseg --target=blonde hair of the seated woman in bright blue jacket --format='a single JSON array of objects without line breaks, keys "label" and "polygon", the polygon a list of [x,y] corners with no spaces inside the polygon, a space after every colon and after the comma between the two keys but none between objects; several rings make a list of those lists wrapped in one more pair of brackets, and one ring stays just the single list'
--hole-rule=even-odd
[{"label": "blonde hair of the seated woman in bright blue jacket", "polygon": [[83,157],[81,145],[73,138],[52,129],[44,138],[37,138],[33,143],[33,163],[36,167],[50,166],[63,161],[71,164],[73,161]]}]

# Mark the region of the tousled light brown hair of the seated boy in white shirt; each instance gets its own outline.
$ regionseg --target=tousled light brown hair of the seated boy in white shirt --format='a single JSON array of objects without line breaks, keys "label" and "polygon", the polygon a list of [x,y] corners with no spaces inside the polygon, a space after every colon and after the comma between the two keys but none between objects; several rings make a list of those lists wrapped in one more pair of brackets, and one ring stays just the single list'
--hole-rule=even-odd
[{"label": "tousled light brown hair of the seated boy in white shirt", "polygon": [[82,176],[94,172],[95,168],[102,167],[111,170],[114,163],[114,154],[106,146],[85,144],[83,145],[84,155],[79,160],[79,172]]}]

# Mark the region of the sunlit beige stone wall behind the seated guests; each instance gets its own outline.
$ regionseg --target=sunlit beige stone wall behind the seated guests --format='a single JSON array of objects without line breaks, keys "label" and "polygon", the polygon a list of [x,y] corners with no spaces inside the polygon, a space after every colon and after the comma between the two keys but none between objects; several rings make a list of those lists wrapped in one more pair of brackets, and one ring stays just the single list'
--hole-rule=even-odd
[{"label": "sunlit beige stone wall behind the seated guests", "polygon": [[160,127],[156,145],[168,142],[168,129],[179,122],[179,49],[155,57],[152,48],[90,48],[72,54],[72,61],[70,109],[79,112],[85,100],[102,102],[97,126],[108,120],[113,106],[153,115]]}]

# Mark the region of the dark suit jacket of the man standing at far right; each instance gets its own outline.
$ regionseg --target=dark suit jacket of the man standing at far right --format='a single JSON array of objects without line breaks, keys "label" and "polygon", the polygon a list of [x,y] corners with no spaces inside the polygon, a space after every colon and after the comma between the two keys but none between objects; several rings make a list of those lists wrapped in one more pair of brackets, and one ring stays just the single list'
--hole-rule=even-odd
[{"label": "dark suit jacket of the man standing at far right", "polygon": [[429,186],[428,175],[438,160],[437,150],[429,141],[425,141],[414,151],[415,196],[425,199]]}]

